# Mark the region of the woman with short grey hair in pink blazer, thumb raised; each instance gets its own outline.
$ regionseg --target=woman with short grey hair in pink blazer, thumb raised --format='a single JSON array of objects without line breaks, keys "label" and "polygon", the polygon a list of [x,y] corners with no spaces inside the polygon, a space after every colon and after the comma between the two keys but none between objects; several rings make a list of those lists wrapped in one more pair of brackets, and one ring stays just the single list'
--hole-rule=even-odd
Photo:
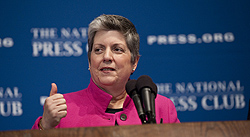
[{"label": "woman with short grey hair in pink blazer, thumb raised", "polygon": [[[125,85],[139,60],[139,35],[128,19],[101,15],[89,24],[88,88],[58,94],[53,83],[33,129],[141,124]],[[157,95],[156,122],[179,123],[173,103]]]}]

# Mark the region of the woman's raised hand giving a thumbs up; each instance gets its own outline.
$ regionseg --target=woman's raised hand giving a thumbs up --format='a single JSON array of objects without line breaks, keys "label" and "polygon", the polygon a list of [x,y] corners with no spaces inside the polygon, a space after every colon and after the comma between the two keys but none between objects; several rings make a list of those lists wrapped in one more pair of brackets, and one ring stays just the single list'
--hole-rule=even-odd
[{"label": "woman's raised hand giving a thumbs up", "polygon": [[51,84],[50,96],[45,100],[41,124],[44,129],[56,127],[60,120],[67,115],[66,100],[62,94],[57,93],[55,83]]}]

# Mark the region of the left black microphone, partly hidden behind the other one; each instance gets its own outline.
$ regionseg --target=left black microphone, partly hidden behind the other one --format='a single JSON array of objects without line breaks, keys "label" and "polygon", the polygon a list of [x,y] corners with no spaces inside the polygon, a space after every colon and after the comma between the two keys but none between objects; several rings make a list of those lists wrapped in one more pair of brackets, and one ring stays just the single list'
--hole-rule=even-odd
[{"label": "left black microphone, partly hidden behind the other one", "polygon": [[140,96],[137,93],[137,89],[136,89],[136,80],[132,79],[129,80],[126,84],[126,92],[128,93],[128,95],[130,96],[130,98],[133,99],[133,102],[135,104],[137,113],[139,115],[139,118],[141,119],[142,124],[146,124],[146,116],[142,107],[142,103],[140,100]]}]

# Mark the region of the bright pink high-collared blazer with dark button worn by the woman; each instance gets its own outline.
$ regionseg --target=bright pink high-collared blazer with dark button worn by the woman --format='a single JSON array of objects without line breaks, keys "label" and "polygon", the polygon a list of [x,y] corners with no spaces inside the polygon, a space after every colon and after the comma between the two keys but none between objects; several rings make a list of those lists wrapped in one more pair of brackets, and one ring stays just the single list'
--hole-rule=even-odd
[{"label": "bright pink high-collared blazer with dark button worn by the woman", "polygon": [[[105,113],[112,96],[90,80],[88,88],[77,92],[64,94],[67,104],[67,116],[62,118],[56,128],[95,127],[118,125],[140,125],[133,100],[127,96],[123,104],[123,111],[115,114]],[[156,122],[180,123],[172,101],[164,96],[157,95],[155,99]],[[32,129],[39,129],[39,117]]]}]

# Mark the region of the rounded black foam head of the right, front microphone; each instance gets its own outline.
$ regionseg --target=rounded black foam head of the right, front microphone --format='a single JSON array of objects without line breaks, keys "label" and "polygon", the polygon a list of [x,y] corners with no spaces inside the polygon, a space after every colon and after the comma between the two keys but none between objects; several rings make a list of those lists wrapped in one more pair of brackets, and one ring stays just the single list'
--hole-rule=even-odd
[{"label": "rounded black foam head of the right, front microphone", "polygon": [[147,75],[142,75],[137,79],[136,88],[139,92],[142,88],[150,88],[155,95],[157,94],[157,86],[155,85],[153,80]]}]

